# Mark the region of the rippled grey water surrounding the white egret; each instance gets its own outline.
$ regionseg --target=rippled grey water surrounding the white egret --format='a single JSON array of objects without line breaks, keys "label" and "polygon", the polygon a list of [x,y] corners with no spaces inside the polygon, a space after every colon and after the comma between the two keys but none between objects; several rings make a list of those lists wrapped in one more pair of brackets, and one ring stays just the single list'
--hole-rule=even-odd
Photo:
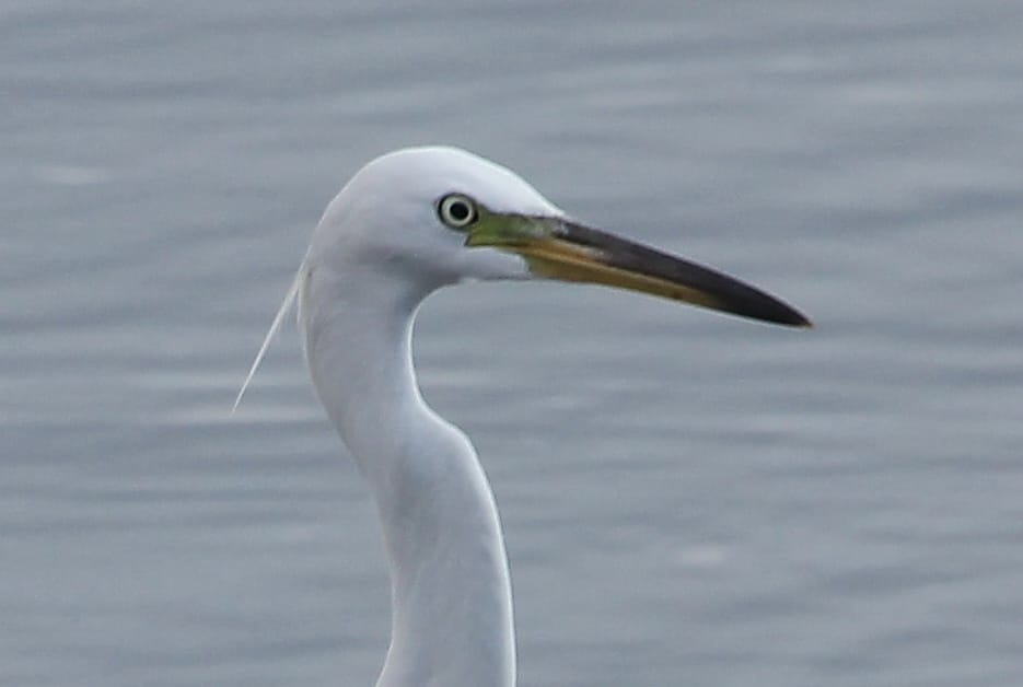
[{"label": "rippled grey water surrounding the white egret", "polygon": [[0,685],[371,685],[367,490],[288,327],[340,185],[499,160],[786,296],[423,307],[522,685],[1023,684],[1023,4],[7,1]]}]

